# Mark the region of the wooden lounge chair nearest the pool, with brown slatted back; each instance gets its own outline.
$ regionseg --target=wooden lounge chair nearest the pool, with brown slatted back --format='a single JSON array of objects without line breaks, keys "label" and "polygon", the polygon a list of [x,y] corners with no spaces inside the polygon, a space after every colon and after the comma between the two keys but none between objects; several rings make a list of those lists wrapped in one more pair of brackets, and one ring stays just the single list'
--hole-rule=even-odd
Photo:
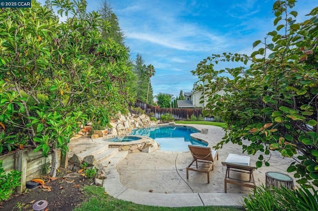
[{"label": "wooden lounge chair nearest the pool, with brown slatted back", "polygon": [[[189,178],[189,170],[208,174],[208,183],[210,183],[210,171],[213,170],[215,158],[219,159],[219,153],[210,147],[200,147],[188,145],[192,154],[192,162],[187,167],[187,179]],[[195,164],[193,164],[195,162]],[[199,165],[198,165],[199,163]]]}]

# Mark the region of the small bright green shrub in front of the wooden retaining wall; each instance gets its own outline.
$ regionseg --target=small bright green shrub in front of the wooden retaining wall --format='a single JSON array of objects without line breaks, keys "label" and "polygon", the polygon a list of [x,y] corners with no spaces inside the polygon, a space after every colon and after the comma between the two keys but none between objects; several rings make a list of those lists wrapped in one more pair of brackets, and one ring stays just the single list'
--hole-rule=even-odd
[{"label": "small bright green shrub in front of the wooden retaining wall", "polygon": [[0,202],[8,199],[14,192],[14,188],[20,186],[21,172],[12,170],[5,174],[0,160]]}]

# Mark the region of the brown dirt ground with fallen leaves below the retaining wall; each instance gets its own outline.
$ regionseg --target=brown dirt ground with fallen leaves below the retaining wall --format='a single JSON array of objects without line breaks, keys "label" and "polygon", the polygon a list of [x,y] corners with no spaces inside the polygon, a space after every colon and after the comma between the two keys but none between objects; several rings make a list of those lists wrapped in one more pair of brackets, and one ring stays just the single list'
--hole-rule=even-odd
[{"label": "brown dirt ground with fallen leaves below the retaining wall", "polygon": [[78,167],[73,171],[72,168],[73,165],[68,166],[70,170],[60,168],[56,178],[40,177],[45,182],[44,187],[39,185],[34,189],[26,189],[21,195],[13,194],[0,204],[0,211],[33,211],[33,204],[39,200],[48,202],[47,211],[74,210],[85,199],[83,186],[93,185],[93,179],[78,173]]}]

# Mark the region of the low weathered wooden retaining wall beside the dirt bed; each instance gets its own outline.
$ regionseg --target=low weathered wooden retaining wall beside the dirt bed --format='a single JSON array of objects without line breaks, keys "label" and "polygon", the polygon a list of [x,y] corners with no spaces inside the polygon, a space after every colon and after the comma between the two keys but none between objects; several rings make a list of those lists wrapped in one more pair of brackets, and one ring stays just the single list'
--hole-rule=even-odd
[{"label": "low weathered wooden retaining wall beside the dirt bed", "polygon": [[[41,151],[34,153],[33,150],[18,150],[0,156],[0,160],[6,173],[12,170],[21,171],[21,186],[16,189],[20,194],[25,191],[27,181],[39,178],[43,173],[49,173],[46,170],[51,167],[52,156],[48,154],[45,158]],[[58,166],[67,167],[67,165],[68,153],[62,155],[61,151],[58,151]]]}]

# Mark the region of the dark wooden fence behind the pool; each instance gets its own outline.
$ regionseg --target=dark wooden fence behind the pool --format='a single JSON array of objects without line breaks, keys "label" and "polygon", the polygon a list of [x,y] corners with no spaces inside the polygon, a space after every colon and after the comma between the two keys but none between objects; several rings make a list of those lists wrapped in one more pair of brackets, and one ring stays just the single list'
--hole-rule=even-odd
[{"label": "dark wooden fence behind the pool", "polygon": [[[140,107],[146,113],[154,113],[154,117],[160,119],[160,116],[165,113],[171,113],[174,119],[177,120],[185,120],[190,118],[191,115],[195,115],[198,117],[200,114],[202,115],[202,108],[160,108],[158,106],[152,106],[146,104],[140,100],[137,100],[135,103],[135,107]],[[202,115],[203,116],[203,115]],[[213,121],[213,117],[204,117],[205,121]]]}]

